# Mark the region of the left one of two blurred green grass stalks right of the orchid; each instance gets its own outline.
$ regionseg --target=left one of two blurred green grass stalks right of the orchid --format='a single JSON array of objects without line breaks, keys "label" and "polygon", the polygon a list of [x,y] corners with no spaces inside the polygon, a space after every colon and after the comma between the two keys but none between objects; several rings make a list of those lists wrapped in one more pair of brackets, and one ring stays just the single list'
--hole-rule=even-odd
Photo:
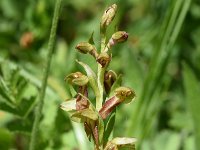
[{"label": "left one of two blurred green grass stalks right of the orchid", "polygon": [[[151,59],[151,64],[150,64],[150,69],[149,69],[149,73],[148,76],[144,82],[144,86],[143,86],[143,90],[141,93],[141,97],[140,100],[138,102],[137,108],[135,109],[135,113],[132,115],[132,119],[134,120],[134,122],[131,123],[129,129],[128,129],[128,134],[131,133],[137,133],[138,135],[140,135],[141,131],[140,131],[140,125],[144,119],[145,113],[147,113],[146,108],[148,107],[148,104],[150,103],[150,95],[153,91],[150,91],[152,89],[152,84],[155,81],[155,72],[158,71],[157,69],[157,65],[158,65],[158,61],[159,61],[159,56],[161,55],[161,53],[164,51],[164,49],[161,47],[166,47],[164,45],[167,44],[167,40],[166,38],[169,38],[170,33],[173,30],[173,26],[171,24],[175,24],[175,18],[177,18],[178,16],[178,12],[179,9],[181,8],[181,2],[182,0],[178,0],[174,5],[174,7],[172,7],[172,14],[170,16],[169,22],[164,21],[164,24],[167,23],[165,30],[162,31],[164,32],[162,40],[161,40],[161,44],[158,45],[153,58]],[[170,15],[170,14],[169,14]],[[168,20],[168,18],[166,18]],[[162,28],[163,29],[163,28]],[[161,32],[161,33],[162,33]],[[137,112],[140,112],[139,114]]]}]

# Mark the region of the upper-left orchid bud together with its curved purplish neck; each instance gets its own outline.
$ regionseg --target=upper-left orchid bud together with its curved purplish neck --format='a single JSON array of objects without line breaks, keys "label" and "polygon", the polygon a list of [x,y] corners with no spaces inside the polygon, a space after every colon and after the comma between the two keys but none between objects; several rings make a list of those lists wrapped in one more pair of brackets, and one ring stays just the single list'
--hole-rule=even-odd
[{"label": "upper-left orchid bud together with its curved purplish neck", "polygon": [[76,45],[76,49],[83,54],[90,53],[95,59],[98,57],[97,50],[94,45],[88,42],[81,42]]}]

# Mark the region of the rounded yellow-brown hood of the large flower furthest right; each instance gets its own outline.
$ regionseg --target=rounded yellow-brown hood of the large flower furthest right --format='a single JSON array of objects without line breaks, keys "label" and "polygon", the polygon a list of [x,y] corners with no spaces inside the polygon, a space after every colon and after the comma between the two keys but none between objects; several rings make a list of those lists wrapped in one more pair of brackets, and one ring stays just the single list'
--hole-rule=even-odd
[{"label": "rounded yellow-brown hood of the large flower furthest right", "polygon": [[135,97],[135,92],[128,87],[119,87],[115,90],[115,95],[120,101],[130,103]]}]

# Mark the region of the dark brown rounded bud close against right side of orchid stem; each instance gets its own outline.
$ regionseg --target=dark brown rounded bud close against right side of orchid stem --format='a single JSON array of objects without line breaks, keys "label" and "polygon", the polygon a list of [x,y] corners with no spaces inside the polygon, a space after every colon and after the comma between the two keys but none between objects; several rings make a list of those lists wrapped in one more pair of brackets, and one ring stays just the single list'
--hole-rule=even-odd
[{"label": "dark brown rounded bud close against right side of orchid stem", "polygon": [[104,74],[104,87],[105,87],[105,91],[106,93],[108,93],[113,85],[113,83],[116,81],[117,79],[117,74],[112,71],[106,71]]}]

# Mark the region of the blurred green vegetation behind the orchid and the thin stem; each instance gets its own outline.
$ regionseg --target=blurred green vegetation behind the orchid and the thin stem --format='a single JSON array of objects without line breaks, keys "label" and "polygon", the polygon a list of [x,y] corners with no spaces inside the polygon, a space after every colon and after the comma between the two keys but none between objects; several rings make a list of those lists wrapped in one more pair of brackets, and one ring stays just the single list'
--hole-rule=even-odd
[{"label": "blurred green vegetation behind the orchid and the thin stem", "polygon": [[[82,127],[60,109],[70,97],[65,75],[95,61],[74,47],[94,31],[104,9],[118,5],[116,28],[129,33],[109,66],[137,98],[117,109],[114,136],[141,150],[200,149],[200,1],[63,0],[37,149],[91,149]],[[41,85],[55,0],[0,1],[0,149],[26,150]]]}]

